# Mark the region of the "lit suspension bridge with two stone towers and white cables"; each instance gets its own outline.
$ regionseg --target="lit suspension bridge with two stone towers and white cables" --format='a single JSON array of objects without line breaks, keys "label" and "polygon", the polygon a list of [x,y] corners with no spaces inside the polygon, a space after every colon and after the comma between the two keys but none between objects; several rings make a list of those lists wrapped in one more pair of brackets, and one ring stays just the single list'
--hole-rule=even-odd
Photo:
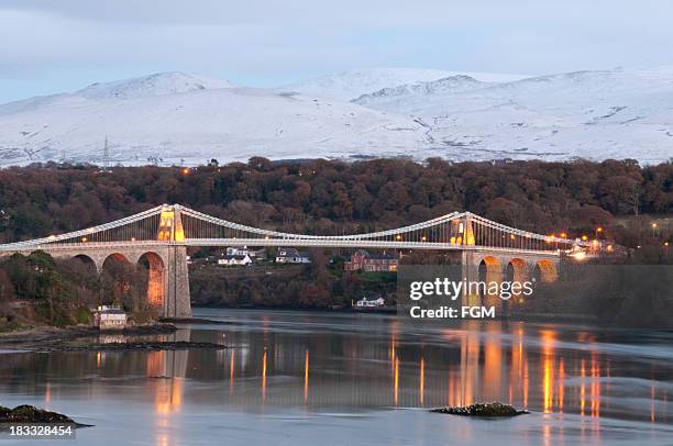
[{"label": "lit suspension bridge with two stone towers and white cables", "polygon": [[43,250],[56,258],[90,261],[98,272],[109,258],[148,265],[147,300],[163,316],[189,317],[187,248],[293,246],[454,250],[464,277],[479,268],[494,278],[512,268],[515,280],[532,275],[554,280],[564,253],[583,242],[510,227],[470,212],[452,212],[395,230],[350,235],[307,235],[233,223],[179,204],[164,204],[110,223],[60,235],[0,245],[0,256]]}]

